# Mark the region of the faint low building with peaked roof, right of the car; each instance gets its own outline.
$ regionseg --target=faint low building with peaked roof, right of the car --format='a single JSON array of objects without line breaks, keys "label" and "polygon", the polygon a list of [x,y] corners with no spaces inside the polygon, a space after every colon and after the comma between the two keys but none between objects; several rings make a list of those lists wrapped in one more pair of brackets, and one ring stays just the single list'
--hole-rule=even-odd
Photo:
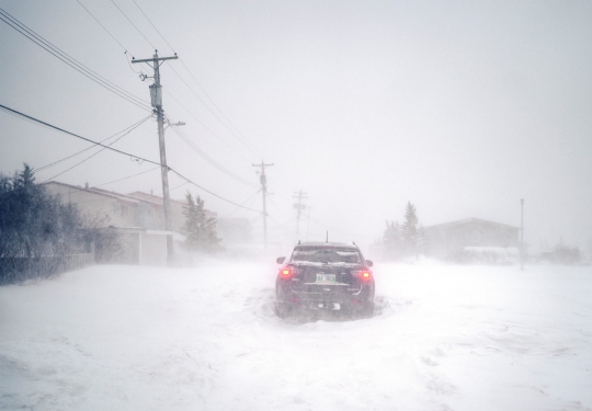
[{"label": "faint low building with peaked roof, right of the car", "polygon": [[[475,248],[517,248],[520,228],[467,218],[423,228],[430,255],[452,259]],[[513,251],[512,251],[513,252]]]}]

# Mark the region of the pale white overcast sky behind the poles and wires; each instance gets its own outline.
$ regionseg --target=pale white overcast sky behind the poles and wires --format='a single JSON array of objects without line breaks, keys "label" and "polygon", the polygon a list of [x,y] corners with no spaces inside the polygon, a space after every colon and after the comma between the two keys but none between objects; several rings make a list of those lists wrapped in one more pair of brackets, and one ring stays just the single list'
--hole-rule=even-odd
[{"label": "pale white overcast sky behind the poles and wires", "polygon": [[[113,2],[80,1],[136,58],[151,56],[148,41],[160,55],[173,53],[133,0],[115,3],[148,41]],[[592,248],[592,2],[136,2],[223,113],[172,61],[161,71],[167,114],[185,122],[182,130],[194,145],[254,187],[215,169],[170,129],[169,164],[243,203],[259,183],[251,163],[273,162],[274,236],[295,230],[292,197],[303,190],[312,207],[310,239],[328,229],[331,239],[367,244],[382,237],[386,219],[402,220],[408,201],[425,226],[471,217],[520,226],[525,198],[525,241],[534,249],[561,238]],[[76,0],[0,5],[149,101],[150,81],[139,80],[124,49]],[[3,22],[0,39],[0,104],[96,140],[147,115]],[[4,173],[88,147],[3,112],[0,118]],[[114,147],[158,160],[156,123]],[[84,157],[38,172],[38,181]],[[99,185],[150,168],[104,151],[56,180]],[[171,176],[172,187],[181,183]],[[159,171],[103,187],[158,193]],[[182,198],[186,189],[220,217],[236,210],[189,185],[171,195]],[[261,196],[246,205],[260,209]],[[261,219],[253,225],[260,233]],[[306,231],[305,216],[300,238]]]}]

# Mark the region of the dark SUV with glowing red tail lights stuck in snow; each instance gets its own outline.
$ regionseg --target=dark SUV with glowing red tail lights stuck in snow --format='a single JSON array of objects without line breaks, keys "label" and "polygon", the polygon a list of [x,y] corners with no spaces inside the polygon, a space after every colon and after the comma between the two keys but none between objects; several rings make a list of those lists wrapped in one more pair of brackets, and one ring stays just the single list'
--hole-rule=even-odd
[{"label": "dark SUV with glowing red tail lights stuck in snow", "polygon": [[372,316],[374,276],[360,248],[338,242],[298,243],[275,281],[275,312],[285,318],[296,310],[331,310]]}]

